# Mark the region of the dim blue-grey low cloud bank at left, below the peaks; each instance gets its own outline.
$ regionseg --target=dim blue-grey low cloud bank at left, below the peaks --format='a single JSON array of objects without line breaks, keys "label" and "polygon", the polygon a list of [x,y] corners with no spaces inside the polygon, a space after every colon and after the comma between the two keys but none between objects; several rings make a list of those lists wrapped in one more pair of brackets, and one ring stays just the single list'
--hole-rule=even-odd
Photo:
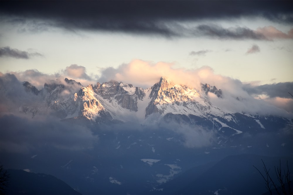
[{"label": "dim blue-grey low cloud bank at left, below the peaks", "polygon": [[98,140],[87,127],[53,118],[0,117],[1,152],[23,153],[43,148],[84,150]]}]

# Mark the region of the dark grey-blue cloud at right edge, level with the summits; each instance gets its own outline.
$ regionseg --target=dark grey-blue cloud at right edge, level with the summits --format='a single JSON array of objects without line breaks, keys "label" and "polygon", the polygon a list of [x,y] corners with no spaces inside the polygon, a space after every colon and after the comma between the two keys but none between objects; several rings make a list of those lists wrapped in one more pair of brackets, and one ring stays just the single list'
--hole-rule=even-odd
[{"label": "dark grey-blue cloud at right edge, level with the summits", "polygon": [[251,86],[251,84],[245,84],[243,89],[251,95],[265,94],[270,98],[281,97],[281,98],[292,98],[293,93],[293,82],[280,82],[274,84],[264,84],[259,86]]}]

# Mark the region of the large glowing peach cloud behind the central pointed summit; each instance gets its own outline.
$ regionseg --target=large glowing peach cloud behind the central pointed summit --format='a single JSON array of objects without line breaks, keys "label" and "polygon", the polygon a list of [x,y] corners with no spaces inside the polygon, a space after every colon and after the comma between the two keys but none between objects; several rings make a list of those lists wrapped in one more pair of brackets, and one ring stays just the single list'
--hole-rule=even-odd
[{"label": "large glowing peach cloud behind the central pointed summit", "polygon": [[229,80],[228,77],[215,75],[212,68],[208,66],[196,70],[188,70],[185,68],[174,68],[173,65],[173,63],[154,63],[136,59],[130,63],[120,65],[117,69],[107,68],[103,70],[100,81],[104,82],[113,79],[147,88],[159,82],[160,77],[163,76],[176,84],[200,88],[200,82],[216,84],[219,81]]}]

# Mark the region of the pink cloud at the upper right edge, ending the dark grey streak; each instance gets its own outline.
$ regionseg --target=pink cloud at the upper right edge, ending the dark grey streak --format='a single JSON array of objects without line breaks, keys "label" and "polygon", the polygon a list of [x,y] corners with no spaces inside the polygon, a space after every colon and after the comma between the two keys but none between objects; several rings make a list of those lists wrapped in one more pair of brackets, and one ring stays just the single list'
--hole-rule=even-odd
[{"label": "pink cloud at the upper right edge, ending the dark grey streak", "polygon": [[278,30],[274,26],[259,27],[255,31],[258,34],[263,34],[267,39],[293,39],[293,28],[288,33]]}]

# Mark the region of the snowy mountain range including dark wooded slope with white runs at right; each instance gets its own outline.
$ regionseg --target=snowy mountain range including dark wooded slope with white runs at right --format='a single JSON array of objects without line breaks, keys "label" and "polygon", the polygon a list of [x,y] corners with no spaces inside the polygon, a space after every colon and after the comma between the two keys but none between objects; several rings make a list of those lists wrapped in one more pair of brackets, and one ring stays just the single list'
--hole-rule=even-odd
[{"label": "snowy mountain range including dark wooded slope with white runs at right", "polygon": [[[225,136],[247,132],[252,127],[255,131],[275,127],[290,129],[293,126],[289,118],[234,113],[214,106],[210,95],[222,99],[226,92],[209,84],[200,86],[195,89],[174,84],[164,77],[147,89],[114,80],[83,87],[65,78],[64,81],[45,83],[44,88],[38,90],[23,82],[26,93],[38,97],[36,105],[43,102],[44,108],[26,104],[21,105],[19,111],[32,113],[33,117],[50,114],[62,120],[83,120],[90,124],[120,121],[144,125],[170,122],[199,125],[217,129],[221,137],[217,140],[219,144],[227,140]],[[237,102],[241,103],[241,100],[238,98]]]}]

